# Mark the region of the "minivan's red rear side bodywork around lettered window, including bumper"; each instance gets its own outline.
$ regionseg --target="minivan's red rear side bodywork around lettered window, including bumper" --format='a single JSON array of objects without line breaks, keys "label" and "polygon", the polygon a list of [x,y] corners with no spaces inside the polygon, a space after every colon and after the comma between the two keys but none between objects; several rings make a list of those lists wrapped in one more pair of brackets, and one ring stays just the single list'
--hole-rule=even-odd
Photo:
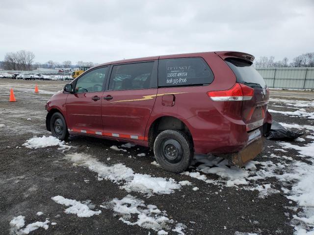
[{"label": "minivan's red rear side bodywork around lettered window, including bumper", "polygon": [[[161,56],[160,59],[202,57],[214,74],[207,86],[177,86],[158,88],[157,94],[174,94],[174,106],[162,106],[162,96],[156,103],[146,128],[148,135],[151,124],[161,116],[179,118],[189,128],[197,153],[229,152],[243,147],[247,137],[245,124],[241,120],[241,102],[215,102],[208,91],[228,90],[236,82],[229,66],[215,53],[194,53],[188,56]],[[176,94],[177,93],[177,94]],[[231,138],[232,136],[232,138]]]}]

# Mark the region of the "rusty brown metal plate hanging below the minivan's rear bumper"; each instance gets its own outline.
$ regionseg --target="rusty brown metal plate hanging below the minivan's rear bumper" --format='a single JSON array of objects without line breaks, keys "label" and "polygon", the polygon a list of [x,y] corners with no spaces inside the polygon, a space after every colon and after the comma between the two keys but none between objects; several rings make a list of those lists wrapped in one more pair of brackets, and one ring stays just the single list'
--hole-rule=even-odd
[{"label": "rusty brown metal plate hanging below the minivan's rear bumper", "polygon": [[264,137],[251,142],[242,150],[235,153],[222,154],[221,157],[228,159],[230,164],[237,167],[244,166],[247,162],[256,158],[262,152]]}]

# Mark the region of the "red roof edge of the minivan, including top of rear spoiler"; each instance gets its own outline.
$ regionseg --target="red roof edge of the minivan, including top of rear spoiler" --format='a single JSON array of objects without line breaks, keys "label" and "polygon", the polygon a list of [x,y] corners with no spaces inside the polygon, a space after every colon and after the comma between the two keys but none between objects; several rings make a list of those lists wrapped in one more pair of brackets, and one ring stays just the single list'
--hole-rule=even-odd
[{"label": "red roof edge of the minivan, including top of rear spoiler", "polygon": [[[217,54],[221,57],[237,57],[236,55],[248,55],[252,56],[248,53],[244,52],[237,52],[237,51],[208,51],[208,52],[196,52],[196,53],[184,53],[184,54],[173,54],[173,55],[159,55],[159,56],[149,56],[149,57],[141,57],[141,58],[134,58],[134,59],[126,59],[126,60],[117,60],[111,61],[104,64],[97,65],[104,66],[104,65],[111,65],[111,64],[121,64],[127,62],[136,62],[136,61],[145,61],[145,60],[157,60],[157,59],[170,59],[170,58],[180,58],[180,57],[198,57],[203,56],[205,54]],[[252,56],[254,58],[254,56]]]}]

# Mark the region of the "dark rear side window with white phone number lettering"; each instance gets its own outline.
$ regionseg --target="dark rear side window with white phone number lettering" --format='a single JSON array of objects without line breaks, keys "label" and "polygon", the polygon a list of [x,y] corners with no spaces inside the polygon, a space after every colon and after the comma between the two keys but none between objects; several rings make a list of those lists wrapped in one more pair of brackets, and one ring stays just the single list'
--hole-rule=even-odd
[{"label": "dark rear side window with white phone number lettering", "polygon": [[158,86],[203,85],[213,81],[214,75],[200,57],[161,59],[158,65]]}]

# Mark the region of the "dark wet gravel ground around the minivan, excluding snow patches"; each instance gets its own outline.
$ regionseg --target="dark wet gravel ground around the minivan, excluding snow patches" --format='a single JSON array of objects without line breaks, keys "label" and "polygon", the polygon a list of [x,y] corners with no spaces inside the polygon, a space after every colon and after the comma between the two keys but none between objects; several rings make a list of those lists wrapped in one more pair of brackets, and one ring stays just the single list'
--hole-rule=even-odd
[{"label": "dark wet gravel ground around the minivan, excluding snow patches", "polygon": [[[38,84],[39,94],[33,92],[35,83]],[[293,234],[292,215],[302,209],[298,208],[296,202],[287,199],[282,190],[283,182],[275,177],[257,181],[262,185],[271,184],[274,189],[278,190],[277,193],[270,193],[262,198],[258,190],[247,190],[241,186],[226,187],[226,180],[216,174],[201,172],[213,182],[206,183],[188,175],[166,172],[151,164],[154,161],[154,154],[147,148],[134,146],[127,149],[128,152],[110,149],[112,145],[122,144],[117,141],[92,137],[70,137],[67,144],[71,148],[64,153],[55,146],[38,149],[22,146],[33,136],[50,135],[45,128],[47,112],[44,105],[51,95],[60,90],[65,83],[0,79],[0,124],[4,124],[0,125],[0,234],[14,234],[9,222],[18,215],[26,217],[26,224],[45,221],[49,218],[49,229],[39,228],[31,232],[34,235],[157,234],[153,230],[123,223],[119,220],[120,216],[114,216],[114,211],[101,208],[100,205],[104,202],[113,198],[122,199],[130,192],[112,181],[97,180],[97,173],[87,167],[74,165],[67,157],[68,154],[74,153],[91,155],[107,165],[121,163],[130,167],[135,173],[172,178],[177,182],[189,181],[191,186],[176,189],[171,194],[147,196],[139,192],[130,193],[144,200],[146,205],[153,204],[161,211],[167,211],[167,217],[175,221],[170,226],[171,229],[174,229],[176,223],[183,223],[186,226],[183,230],[184,234],[234,235],[236,232],[259,235]],[[14,88],[17,102],[8,102],[11,87]],[[305,101],[313,95],[313,93],[308,95],[302,92],[299,94],[298,99]],[[271,97],[280,99],[281,96],[284,99],[289,99],[289,97],[295,99],[295,95],[289,95],[289,91],[276,92]],[[277,111],[293,112],[296,108],[298,107],[288,107],[278,101],[271,101],[269,105],[269,109]],[[307,112],[314,112],[313,107],[303,108]],[[274,113],[273,119],[300,125],[313,125],[314,122],[314,119],[285,116],[280,113]],[[303,146],[311,142],[311,139],[304,139],[303,142],[293,142],[293,144]],[[277,141],[266,140],[265,148],[256,161],[271,160],[274,164],[289,164],[289,160],[280,158],[285,155],[293,160],[309,163],[298,156],[299,153],[294,149],[286,149],[288,152],[275,150],[281,148]],[[139,153],[146,153],[146,156],[138,157]],[[270,158],[272,153],[279,158]],[[128,158],[129,155],[133,158]],[[257,170],[262,170],[261,164],[256,164],[256,167]],[[195,171],[195,167],[189,171]],[[283,174],[283,171],[276,171],[276,174]],[[248,186],[253,187],[255,183],[250,182]],[[293,182],[288,182],[285,188],[291,188],[292,184]],[[198,187],[199,190],[192,190],[194,187]],[[95,205],[93,210],[102,212],[99,215],[84,218],[65,213],[64,210],[67,207],[51,199],[57,195],[81,202],[91,200],[91,203]],[[44,214],[36,215],[38,211]],[[52,225],[52,222],[56,224]],[[178,234],[171,229],[167,230],[169,234]]]}]

